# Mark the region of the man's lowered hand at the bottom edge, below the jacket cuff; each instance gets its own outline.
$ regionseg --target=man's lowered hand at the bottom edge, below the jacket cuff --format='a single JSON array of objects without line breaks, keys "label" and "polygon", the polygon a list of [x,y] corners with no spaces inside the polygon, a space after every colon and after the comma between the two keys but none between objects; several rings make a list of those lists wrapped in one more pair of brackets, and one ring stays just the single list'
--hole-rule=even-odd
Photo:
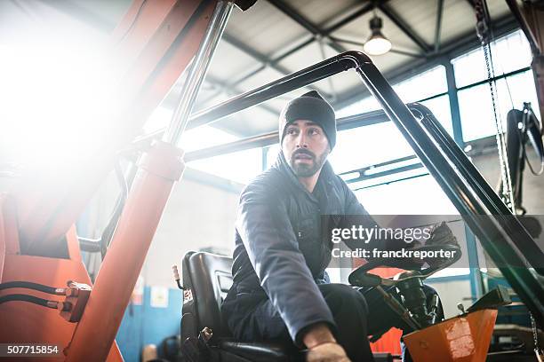
[{"label": "man's lowered hand at the bottom edge, below the jacket cuff", "polygon": [[309,327],[302,341],[308,347],[308,362],[350,362],[346,351],[334,339],[331,329],[323,323]]}]

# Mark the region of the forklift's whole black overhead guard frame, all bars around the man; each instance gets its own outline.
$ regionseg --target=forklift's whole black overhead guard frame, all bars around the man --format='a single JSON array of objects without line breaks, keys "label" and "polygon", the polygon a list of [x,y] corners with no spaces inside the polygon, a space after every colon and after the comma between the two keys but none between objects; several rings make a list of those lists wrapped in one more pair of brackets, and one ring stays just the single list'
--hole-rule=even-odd
[{"label": "forklift's whole black overhead guard frame, all bars around the man", "polygon": [[[544,326],[544,286],[530,270],[532,266],[540,275],[544,275],[542,268],[544,253],[468,160],[467,155],[436,121],[430,110],[416,103],[409,105],[411,111],[404,105],[377,67],[372,64],[372,60],[364,53],[360,51],[341,53],[253,91],[230,98],[218,106],[193,114],[189,119],[188,129],[215,122],[229,114],[349,69],[355,69],[360,75],[364,85],[380,102],[389,120],[395,123],[420,161],[435,177],[438,185],[476,234],[485,251],[498,264],[510,286],[532,311],[540,326]],[[418,114],[419,119],[414,114]],[[381,116],[383,114],[380,112],[369,114],[369,118],[375,117],[373,122],[383,122],[380,121]],[[351,119],[351,122],[354,122],[354,119]],[[361,119],[355,122],[361,122]],[[220,150],[232,152],[234,149],[247,149],[252,144],[269,142],[273,135],[274,133],[269,133],[225,146],[210,147],[205,153],[204,150],[195,151],[193,159],[210,157]],[[190,157],[190,153],[188,156]]]}]

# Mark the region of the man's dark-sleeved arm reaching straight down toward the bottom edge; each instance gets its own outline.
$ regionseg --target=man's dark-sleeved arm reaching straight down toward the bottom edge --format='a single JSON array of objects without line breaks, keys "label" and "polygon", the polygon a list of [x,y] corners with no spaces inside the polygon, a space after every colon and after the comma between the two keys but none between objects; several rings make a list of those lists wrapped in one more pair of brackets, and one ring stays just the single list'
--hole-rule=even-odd
[{"label": "man's dark-sleeved arm reaching straight down toward the bottom edge", "polygon": [[236,229],[260,279],[280,313],[292,340],[302,344],[309,326],[335,330],[334,319],[308,269],[292,231],[287,210],[265,185],[249,185],[242,193]]}]

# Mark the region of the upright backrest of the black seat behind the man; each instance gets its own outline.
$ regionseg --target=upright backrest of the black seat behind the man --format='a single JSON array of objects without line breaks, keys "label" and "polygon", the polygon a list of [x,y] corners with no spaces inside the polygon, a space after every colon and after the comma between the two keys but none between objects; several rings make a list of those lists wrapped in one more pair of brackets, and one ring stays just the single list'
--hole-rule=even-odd
[{"label": "upright backrest of the black seat behind the man", "polygon": [[224,336],[221,330],[220,305],[232,286],[232,259],[210,253],[197,252],[184,258],[188,280],[195,303],[196,327],[212,328],[214,336]]}]

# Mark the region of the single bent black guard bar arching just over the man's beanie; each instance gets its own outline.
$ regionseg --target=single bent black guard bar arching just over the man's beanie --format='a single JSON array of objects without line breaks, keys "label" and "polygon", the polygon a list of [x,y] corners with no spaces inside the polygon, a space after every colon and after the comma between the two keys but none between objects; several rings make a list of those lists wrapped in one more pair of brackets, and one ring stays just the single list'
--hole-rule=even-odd
[{"label": "single bent black guard bar arching just over the man's beanie", "polygon": [[479,237],[485,250],[497,264],[500,264],[500,271],[508,279],[508,282],[516,289],[516,292],[540,323],[544,322],[544,287],[526,267],[518,267],[525,265],[524,260],[518,256],[516,248],[512,247],[512,238],[508,232],[505,232],[502,225],[492,217],[483,217],[492,214],[482,201],[482,197],[485,198],[485,195],[478,188],[473,188],[473,185],[468,185],[467,180],[461,179],[458,171],[452,168],[450,161],[444,156],[441,149],[429,138],[420,122],[415,119],[371,60],[363,53],[348,51],[332,59],[324,60],[315,66],[288,75],[276,82],[268,83],[257,90],[244,93],[219,106],[204,110],[191,118],[191,123],[194,122],[197,126],[212,122],[225,115],[255,106],[285,92],[293,91],[354,67],[369,91],[380,101],[385,114],[388,114],[391,121],[395,122],[414,152],[427,166],[429,173],[436,178],[468,226]]}]

